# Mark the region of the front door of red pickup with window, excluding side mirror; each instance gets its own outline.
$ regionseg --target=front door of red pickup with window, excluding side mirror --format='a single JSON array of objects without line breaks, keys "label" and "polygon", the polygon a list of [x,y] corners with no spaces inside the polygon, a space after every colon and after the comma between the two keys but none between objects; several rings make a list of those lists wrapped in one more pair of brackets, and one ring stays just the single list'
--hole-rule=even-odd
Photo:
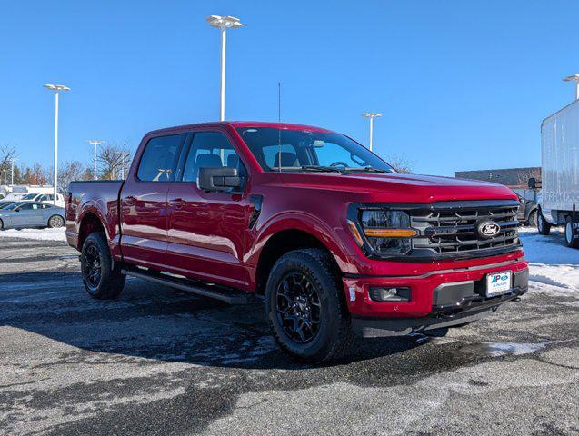
[{"label": "front door of red pickup with window, excluding side mirror", "polygon": [[[243,262],[243,235],[248,225],[247,172],[228,137],[197,132],[184,151],[180,180],[170,183],[167,252],[173,271],[206,282],[244,288],[249,275]],[[229,166],[245,176],[239,192],[207,193],[199,189],[199,168]]]}]

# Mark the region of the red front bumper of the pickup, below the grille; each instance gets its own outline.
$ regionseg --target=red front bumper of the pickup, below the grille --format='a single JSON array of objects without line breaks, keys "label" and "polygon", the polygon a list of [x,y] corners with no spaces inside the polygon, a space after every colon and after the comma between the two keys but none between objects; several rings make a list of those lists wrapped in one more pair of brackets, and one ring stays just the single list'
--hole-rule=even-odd
[{"label": "red front bumper of the pickup, below the grille", "polygon": [[[486,275],[504,271],[513,272],[511,290],[499,296],[485,297]],[[391,332],[385,335],[394,332],[395,335],[471,322],[495,311],[499,305],[515,300],[527,291],[528,269],[526,261],[520,258],[416,276],[345,276],[343,281],[354,330],[370,336],[376,335],[371,333],[373,330]],[[369,295],[374,286],[408,287],[411,299],[409,302],[375,302]]]}]

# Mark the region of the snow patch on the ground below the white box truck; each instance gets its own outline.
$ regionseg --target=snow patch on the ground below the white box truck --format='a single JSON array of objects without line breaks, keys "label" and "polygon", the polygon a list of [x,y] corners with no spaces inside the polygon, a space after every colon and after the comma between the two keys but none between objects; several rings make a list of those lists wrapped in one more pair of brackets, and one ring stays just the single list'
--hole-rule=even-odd
[{"label": "snow patch on the ground below the white box truck", "polygon": [[536,229],[520,229],[532,292],[547,292],[579,298],[579,250],[564,245],[561,229],[549,236]]}]

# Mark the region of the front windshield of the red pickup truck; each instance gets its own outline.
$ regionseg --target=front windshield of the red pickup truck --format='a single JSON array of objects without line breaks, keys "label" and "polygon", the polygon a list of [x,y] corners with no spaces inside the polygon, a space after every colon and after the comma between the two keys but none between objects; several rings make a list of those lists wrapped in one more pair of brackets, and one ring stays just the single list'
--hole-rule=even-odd
[{"label": "front windshield of the red pickup truck", "polygon": [[244,127],[237,132],[265,171],[377,171],[388,163],[344,134]]}]

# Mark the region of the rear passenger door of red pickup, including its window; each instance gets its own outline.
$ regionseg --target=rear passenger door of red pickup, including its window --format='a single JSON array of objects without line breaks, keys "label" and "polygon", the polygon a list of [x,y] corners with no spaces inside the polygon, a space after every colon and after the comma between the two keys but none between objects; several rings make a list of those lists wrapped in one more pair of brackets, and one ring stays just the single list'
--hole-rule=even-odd
[{"label": "rear passenger door of red pickup, including its window", "polygon": [[168,263],[167,193],[187,134],[146,138],[139,163],[120,195],[121,250],[125,261],[155,269]]}]

